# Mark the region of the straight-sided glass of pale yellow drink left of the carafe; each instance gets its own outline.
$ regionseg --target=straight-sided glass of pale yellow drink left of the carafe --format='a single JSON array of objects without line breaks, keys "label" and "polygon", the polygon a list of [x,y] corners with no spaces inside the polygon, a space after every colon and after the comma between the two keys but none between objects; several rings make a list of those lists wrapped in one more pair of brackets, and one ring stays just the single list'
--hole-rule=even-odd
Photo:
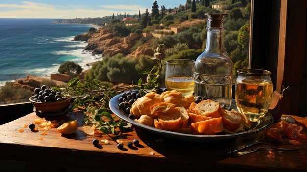
[{"label": "straight-sided glass of pale yellow drink left of the carafe", "polygon": [[186,96],[194,93],[195,61],[174,59],[166,61],[165,86],[168,90],[176,90]]}]

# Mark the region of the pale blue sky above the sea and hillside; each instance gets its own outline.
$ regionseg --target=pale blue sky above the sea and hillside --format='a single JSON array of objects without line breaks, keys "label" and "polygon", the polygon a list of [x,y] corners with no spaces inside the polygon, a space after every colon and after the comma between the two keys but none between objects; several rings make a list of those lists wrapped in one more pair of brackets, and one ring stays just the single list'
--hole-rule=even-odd
[{"label": "pale blue sky above the sea and hillside", "polygon": [[[111,16],[113,13],[138,14],[146,8],[151,12],[155,0],[0,0],[0,18],[70,19]],[[186,0],[157,0],[164,5],[178,7]]]}]

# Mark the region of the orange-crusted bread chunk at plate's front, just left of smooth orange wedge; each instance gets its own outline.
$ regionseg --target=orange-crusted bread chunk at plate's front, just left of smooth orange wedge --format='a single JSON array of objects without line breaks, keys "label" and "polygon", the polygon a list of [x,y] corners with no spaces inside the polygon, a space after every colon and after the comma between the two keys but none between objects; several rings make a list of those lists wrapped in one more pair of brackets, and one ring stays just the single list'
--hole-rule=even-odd
[{"label": "orange-crusted bread chunk at plate's front, just left of smooth orange wedge", "polygon": [[182,127],[181,110],[175,107],[165,114],[158,115],[158,121],[161,124],[161,129],[168,131],[180,131]]}]

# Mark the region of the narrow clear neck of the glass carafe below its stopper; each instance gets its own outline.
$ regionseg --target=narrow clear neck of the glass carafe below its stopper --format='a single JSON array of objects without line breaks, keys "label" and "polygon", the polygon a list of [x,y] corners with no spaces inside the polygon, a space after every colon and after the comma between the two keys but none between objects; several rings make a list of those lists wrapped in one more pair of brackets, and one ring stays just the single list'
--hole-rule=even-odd
[{"label": "narrow clear neck of the glass carafe below its stopper", "polygon": [[222,31],[222,28],[208,28],[205,52],[224,52]]}]

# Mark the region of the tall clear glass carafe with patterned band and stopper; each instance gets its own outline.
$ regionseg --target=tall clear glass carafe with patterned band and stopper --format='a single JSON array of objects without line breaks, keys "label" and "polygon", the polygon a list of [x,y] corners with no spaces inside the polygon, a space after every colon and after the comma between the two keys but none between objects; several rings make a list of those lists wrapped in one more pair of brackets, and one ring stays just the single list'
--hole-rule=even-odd
[{"label": "tall clear glass carafe with patterned band and stopper", "polygon": [[207,44],[195,62],[195,94],[211,98],[224,109],[229,109],[233,63],[223,48],[223,18],[227,14],[206,15]]}]

